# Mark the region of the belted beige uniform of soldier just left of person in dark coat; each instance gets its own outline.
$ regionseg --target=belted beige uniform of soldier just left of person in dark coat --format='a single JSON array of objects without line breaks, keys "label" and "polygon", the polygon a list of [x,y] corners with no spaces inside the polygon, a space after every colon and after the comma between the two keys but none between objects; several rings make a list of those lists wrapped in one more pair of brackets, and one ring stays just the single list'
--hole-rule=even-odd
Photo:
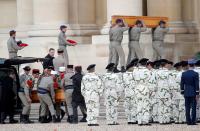
[{"label": "belted beige uniform of soldier just left of person in dark coat", "polygon": [[73,115],[72,108],[72,93],[74,91],[73,82],[71,77],[74,75],[74,72],[67,72],[63,79],[63,86],[65,88],[65,99],[67,104],[67,111],[69,116]]}]

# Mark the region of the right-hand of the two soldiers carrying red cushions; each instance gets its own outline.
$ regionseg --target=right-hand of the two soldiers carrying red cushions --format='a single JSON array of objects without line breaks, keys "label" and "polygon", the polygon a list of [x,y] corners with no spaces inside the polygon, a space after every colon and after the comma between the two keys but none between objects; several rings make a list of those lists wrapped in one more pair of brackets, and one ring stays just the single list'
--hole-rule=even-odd
[{"label": "right-hand of the two soldiers carrying red cushions", "polygon": [[66,36],[67,26],[61,25],[60,26],[60,34],[58,35],[58,45],[59,49],[62,49],[64,51],[64,60],[66,65],[69,64],[69,58],[67,53],[67,46],[72,46],[70,43],[67,42],[67,36]]}]

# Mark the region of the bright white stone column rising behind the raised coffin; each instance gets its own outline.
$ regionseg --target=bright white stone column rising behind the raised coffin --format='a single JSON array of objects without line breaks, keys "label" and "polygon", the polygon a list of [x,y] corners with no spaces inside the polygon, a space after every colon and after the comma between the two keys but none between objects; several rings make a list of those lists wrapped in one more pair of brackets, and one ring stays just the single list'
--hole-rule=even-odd
[{"label": "bright white stone column rising behind the raised coffin", "polygon": [[107,0],[107,23],[101,33],[108,33],[113,15],[142,16],[142,3],[142,0]]}]

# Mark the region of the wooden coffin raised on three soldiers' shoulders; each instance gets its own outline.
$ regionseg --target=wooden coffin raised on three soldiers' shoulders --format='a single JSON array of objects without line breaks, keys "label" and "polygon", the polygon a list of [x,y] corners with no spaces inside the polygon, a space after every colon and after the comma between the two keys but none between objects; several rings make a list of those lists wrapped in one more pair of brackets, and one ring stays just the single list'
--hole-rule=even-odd
[{"label": "wooden coffin raised on three soldiers' shoulders", "polygon": [[144,21],[145,25],[149,28],[154,28],[158,26],[158,23],[160,20],[163,20],[165,22],[169,21],[168,17],[151,17],[151,16],[120,16],[120,15],[114,15],[112,16],[112,24],[115,24],[115,21],[117,19],[123,19],[129,27],[132,27],[135,25],[135,22],[137,20]]}]

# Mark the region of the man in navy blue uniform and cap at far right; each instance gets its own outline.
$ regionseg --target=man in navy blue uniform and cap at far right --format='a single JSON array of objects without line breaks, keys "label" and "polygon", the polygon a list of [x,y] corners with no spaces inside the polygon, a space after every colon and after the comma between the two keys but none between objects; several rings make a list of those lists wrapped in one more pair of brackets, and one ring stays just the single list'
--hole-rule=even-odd
[{"label": "man in navy blue uniform and cap at far right", "polygon": [[[199,96],[199,75],[194,69],[194,60],[189,60],[185,65],[187,70],[181,77],[181,94],[185,97],[186,122],[188,125],[196,125],[196,105]],[[190,114],[192,108],[192,116]]]}]

